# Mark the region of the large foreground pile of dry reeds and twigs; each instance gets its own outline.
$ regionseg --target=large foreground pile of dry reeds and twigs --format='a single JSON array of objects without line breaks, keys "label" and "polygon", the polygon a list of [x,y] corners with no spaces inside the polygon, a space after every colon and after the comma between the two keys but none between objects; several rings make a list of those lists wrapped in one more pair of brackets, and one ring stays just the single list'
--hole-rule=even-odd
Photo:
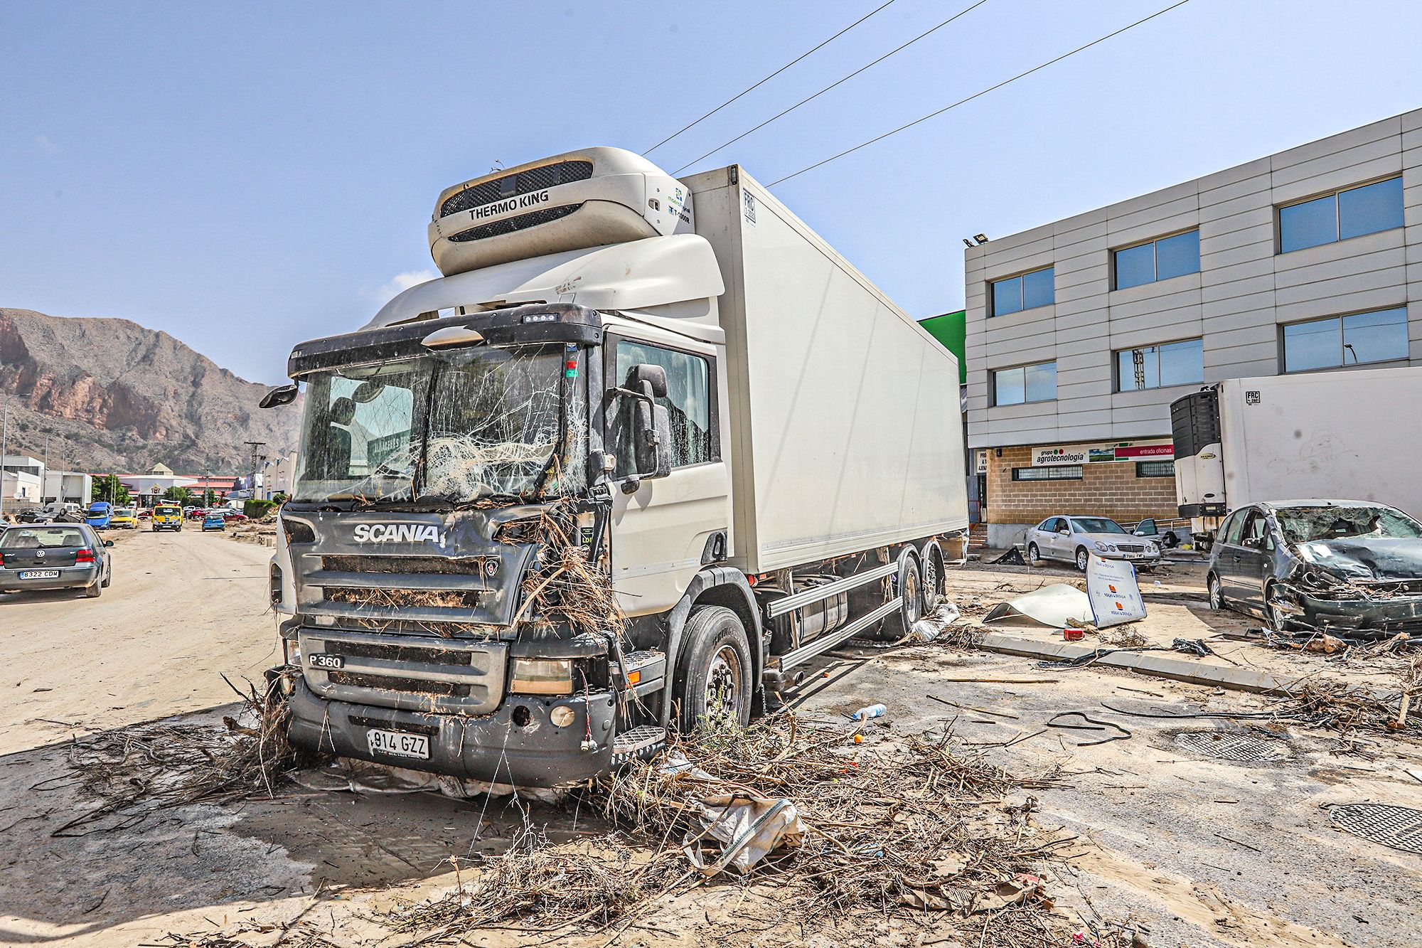
[{"label": "large foreground pile of dry reeds and twigs", "polygon": [[[1037,938],[1028,944],[1055,944],[1062,920],[1034,864],[1066,840],[1031,826],[1032,797],[1005,796],[1051,786],[1052,774],[1022,779],[960,754],[950,733],[855,743],[860,733],[775,715],[674,740],[584,791],[617,827],[611,836],[560,846],[529,836],[472,883],[461,877],[456,892],[390,921],[405,932],[438,928],[439,938],[510,918],[611,925],[665,894],[744,873],[776,890],[786,918],[805,925],[933,911],[984,944],[1027,934]],[[739,804],[759,821],[720,818]],[[774,848],[768,823],[785,830]],[[738,858],[745,850],[754,854]]]}]

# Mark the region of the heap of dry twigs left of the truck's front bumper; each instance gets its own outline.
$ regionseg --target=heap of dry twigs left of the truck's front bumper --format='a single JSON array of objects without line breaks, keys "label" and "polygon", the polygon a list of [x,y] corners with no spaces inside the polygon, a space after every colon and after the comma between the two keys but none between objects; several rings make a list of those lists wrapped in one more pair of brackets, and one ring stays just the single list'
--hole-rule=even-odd
[{"label": "heap of dry twigs left of the truck's front bumper", "polygon": [[[81,774],[84,790],[101,803],[54,836],[84,836],[71,830],[109,814],[122,813],[138,821],[155,806],[272,796],[284,774],[316,763],[287,740],[290,709],[277,688],[257,693],[250,686],[249,692],[237,693],[245,706],[236,717],[222,719],[223,730],[210,725],[155,723],[77,740],[68,764]],[[242,719],[250,719],[252,725],[243,725]]]}]

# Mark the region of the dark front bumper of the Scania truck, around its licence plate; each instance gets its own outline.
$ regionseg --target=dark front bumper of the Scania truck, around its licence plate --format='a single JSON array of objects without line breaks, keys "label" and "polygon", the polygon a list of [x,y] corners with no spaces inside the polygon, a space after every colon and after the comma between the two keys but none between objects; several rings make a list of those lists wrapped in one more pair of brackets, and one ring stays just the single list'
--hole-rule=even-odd
[{"label": "dark front bumper of the Scania truck, around its licence plate", "polygon": [[[616,700],[611,692],[590,696],[525,697],[509,695],[492,715],[427,715],[324,700],[297,680],[292,692],[293,744],[411,770],[515,787],[556,787],[607,770],[613,753]],[[557,727],[549,712],[573,709]],[[526,716],[525,716],[526,715]],[[429,759],[371,753],[370,730],[400,730],[429,737]],[[596,750],[583,750],[589,733]]]}]

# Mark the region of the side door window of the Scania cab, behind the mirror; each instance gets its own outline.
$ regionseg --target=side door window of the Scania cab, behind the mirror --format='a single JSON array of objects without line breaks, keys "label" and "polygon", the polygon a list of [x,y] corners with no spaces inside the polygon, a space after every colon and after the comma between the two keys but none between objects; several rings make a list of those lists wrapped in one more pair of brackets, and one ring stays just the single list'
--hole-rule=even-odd
[{"label": "side door window of the Scania cab, behind the mirror", "polygon": [[[711,364],[701,356],[650,346],[640,342],[617,343],[614,380],[627,384],[633,366],[653,364],[667,370],[667,397],[657,404],[671,416],[671,467],[690,467],[715,460],[711,453]],[[614,477],[637,473],[633,451],[633,400],[617,400],[610,443],[617,457]]]}]

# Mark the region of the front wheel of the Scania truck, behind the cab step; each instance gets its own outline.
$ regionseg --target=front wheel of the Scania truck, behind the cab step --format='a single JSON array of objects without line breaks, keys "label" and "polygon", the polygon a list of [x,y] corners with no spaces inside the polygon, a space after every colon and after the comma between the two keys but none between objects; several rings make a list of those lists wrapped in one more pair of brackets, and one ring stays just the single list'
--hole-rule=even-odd
[{"label": "front wheel of the Scania truck, behind the cab step", "polygon": [[751,645],[741,616],[725,606],[691,611],[677,658],[677,719],[683,733],[701,725],[751,723]]}]

